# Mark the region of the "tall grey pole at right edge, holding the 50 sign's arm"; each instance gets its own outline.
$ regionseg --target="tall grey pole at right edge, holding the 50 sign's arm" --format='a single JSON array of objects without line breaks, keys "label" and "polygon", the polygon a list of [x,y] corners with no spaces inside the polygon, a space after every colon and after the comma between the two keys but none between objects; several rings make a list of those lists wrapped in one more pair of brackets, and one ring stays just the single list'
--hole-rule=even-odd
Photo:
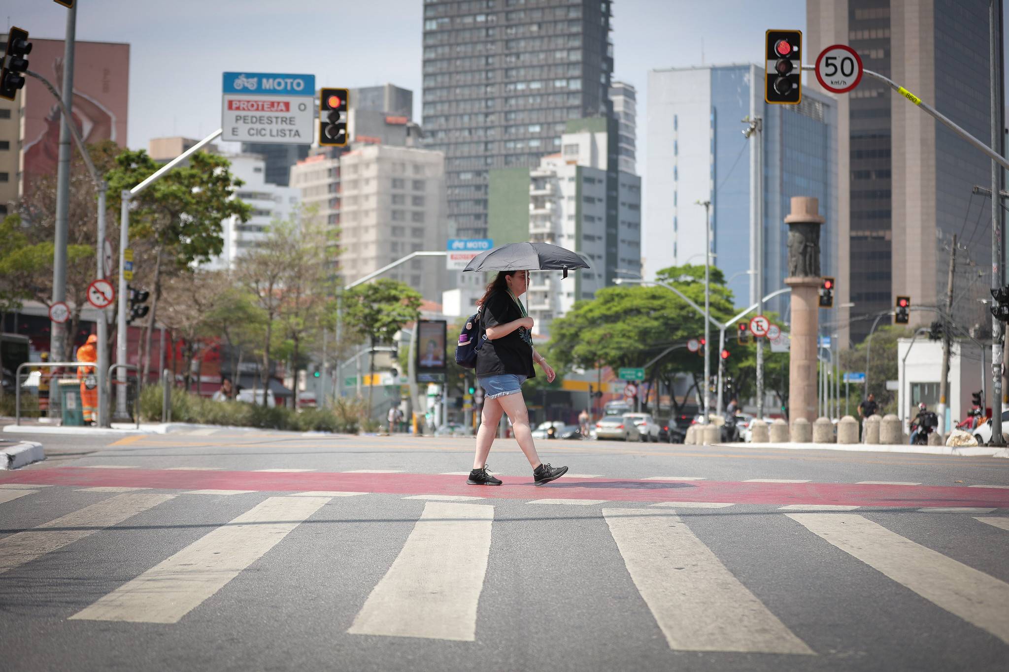
[{"label": "tall grey pole at right edge, holding the 50 sign's arm", "polygon": [[[988,57],[991,64],[989,73],[992,151],[1002,156],[1002,96],[999,93],[1001,81],[1001,53],[996,48],[999,43],[1001,29],[1001,3],[997,0],[988,2],[989,45]],[[1004,159],[1003,159],[1004,160]],[[999,193],[1000,184],[999,163],[992,160],[992,288],[1002,287],[1002,209]],[[992,315],[992,444],[1003,445],[1002,440],[1002,349],[1005,347],[1005,328],[1002,320]]]}]

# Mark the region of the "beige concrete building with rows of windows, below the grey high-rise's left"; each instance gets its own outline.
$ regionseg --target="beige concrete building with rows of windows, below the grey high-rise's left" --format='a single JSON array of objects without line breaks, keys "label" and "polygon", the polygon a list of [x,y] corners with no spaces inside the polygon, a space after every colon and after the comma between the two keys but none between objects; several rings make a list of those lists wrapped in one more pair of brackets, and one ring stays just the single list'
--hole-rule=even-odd
[{"label": "beige concrete building with rows of windows, below the grey high-rise's left", "polygon": [[[317,217],[340,228],[344,283],[411,252],[445,249],[445,169],[441,152],[357,143],[339,158],[310,156],[292,169],[292,184]],[[441,259],[414,259],[383,277],[428,300],[447,288]]]}]

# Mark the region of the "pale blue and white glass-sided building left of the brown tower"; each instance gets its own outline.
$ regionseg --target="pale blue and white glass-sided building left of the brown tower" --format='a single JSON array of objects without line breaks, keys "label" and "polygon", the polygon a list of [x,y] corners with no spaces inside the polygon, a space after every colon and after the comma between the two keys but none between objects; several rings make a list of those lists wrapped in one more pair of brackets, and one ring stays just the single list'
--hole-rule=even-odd
[{"label": "pale blue and white glass-sided building left of the brown tower", "polygon": [[[764,68],[755,64],[656,70],[648,78],[645,275],[704,263],[704,208],[710,200],[711,263],[725,275],[738,306],[757,300],[756,136],[742,119],[764,119],[764,294],[784,286],[791,197],[819,198],[823,275],[835,274],[836,123],[832,102],[804,92],[800,105],[764,102]],[[756,83],[756,86],[754,86]],[[754,160],[751,160],[751,159]],[[836,301],[836,299],[835,299]],[[787,298],[771,303],[784,313]]]}]

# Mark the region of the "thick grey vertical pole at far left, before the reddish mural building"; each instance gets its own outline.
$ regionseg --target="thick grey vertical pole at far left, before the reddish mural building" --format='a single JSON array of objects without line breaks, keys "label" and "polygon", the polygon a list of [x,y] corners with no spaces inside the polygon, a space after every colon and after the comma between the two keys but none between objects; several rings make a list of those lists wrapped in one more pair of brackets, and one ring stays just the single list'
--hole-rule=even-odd
[{"label": "thick grey vertical pole at far left, before the reddish mural building", "polygon": [[[57,217],[52,251],[52,302],[67,298],[67,232],[70,213],[70,125],[74,123],[70,112],[74,109],[74,41],[77,35],[77,3],[67,9],[67,36],[64,41],[63,110],[60,115],[60,154],[57,164]],[[101,251],[99,251],[101,258]],[[67,326],[49,322],[49,357],[61,361],[66,357]],[[74,355],[71,355],[73,358]]]}]

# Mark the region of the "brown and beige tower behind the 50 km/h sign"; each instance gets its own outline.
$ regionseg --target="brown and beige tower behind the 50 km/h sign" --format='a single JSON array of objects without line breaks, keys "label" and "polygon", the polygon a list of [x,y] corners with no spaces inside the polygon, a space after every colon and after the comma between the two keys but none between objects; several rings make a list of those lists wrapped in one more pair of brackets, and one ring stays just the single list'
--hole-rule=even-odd
[{"label": "brown and beige tower behind the 50 km/h sign", "polygon": [[[805,58],[849,44],[866,70],[989,143],[988,11],[988,0],[807,0]],[[817,87],[809,79],[804,91]],[[1001,107],[1003,91],[997,100]],[[966,325],[989,322],[976,299],[990,285],[991,205],[973,188],[990,186],[990,159],[873,78],[837,96],[836,106],[842,197],[834,301],[855,304],[838,314],[851,325],[851,340],[863,340],[871,317],[892,309],[896,295],[910,296],[912,305],[944,303],[954,235],[957,266],[965,269],[955,278],[954,317]],[[843,326],[843,344],[848,335]]]}]

